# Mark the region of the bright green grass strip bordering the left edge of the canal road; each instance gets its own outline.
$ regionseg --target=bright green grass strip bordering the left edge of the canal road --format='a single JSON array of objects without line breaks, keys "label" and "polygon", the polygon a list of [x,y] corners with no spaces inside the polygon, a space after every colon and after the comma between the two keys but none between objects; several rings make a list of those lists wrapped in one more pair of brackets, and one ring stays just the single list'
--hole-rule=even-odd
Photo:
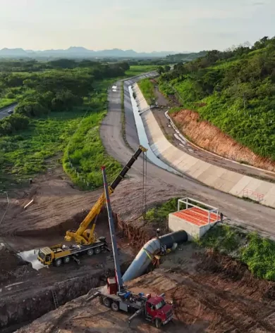
[{"label": "bright green grass strip bordering the left edge of the canal road", "polygon": [[106,166],[109,182],[121,169],[121,165],[105,153],[99,136],[100,123],[107,112],[106,89],[111,82],[103,80],[97,83],[98,93],[91,101],[85,102],[87,115],[79,123],[64,152],[63,168],[82,189],[96,189],[102,185],[102,165]]}]

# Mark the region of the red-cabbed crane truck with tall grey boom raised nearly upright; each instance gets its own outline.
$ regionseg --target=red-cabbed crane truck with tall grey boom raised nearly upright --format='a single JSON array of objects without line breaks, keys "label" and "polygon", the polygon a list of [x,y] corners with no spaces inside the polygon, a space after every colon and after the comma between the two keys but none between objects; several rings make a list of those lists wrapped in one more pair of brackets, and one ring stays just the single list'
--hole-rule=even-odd
[{"label": "red-cabbed crane truck with tall grey boom raised nearly upright", "polygon": [[165,301],[164,294],[159,296],[152,296],[151,294],[145,295],[144,293],[134,294],[124,286],[116,246],[114,220],[109,199],[109,187],[106,183],[104,167],[102,167],[102,175],[116,276],[114,278],[108,278],[106,286],[100,288],[99,291],[92,295],[89,301],[99,297],[100,303],[104,304],[107,308],[111,308],[114,311],[123,310],[128,313],[134,312],[134,314],[128,318],[129,324],[136,316],[143,315],[145,320],[149,320],[149,322],[154,323],[154,325],[159,328],[161,325],[166,325],[167,322],[173,319],[173,306]]}]

